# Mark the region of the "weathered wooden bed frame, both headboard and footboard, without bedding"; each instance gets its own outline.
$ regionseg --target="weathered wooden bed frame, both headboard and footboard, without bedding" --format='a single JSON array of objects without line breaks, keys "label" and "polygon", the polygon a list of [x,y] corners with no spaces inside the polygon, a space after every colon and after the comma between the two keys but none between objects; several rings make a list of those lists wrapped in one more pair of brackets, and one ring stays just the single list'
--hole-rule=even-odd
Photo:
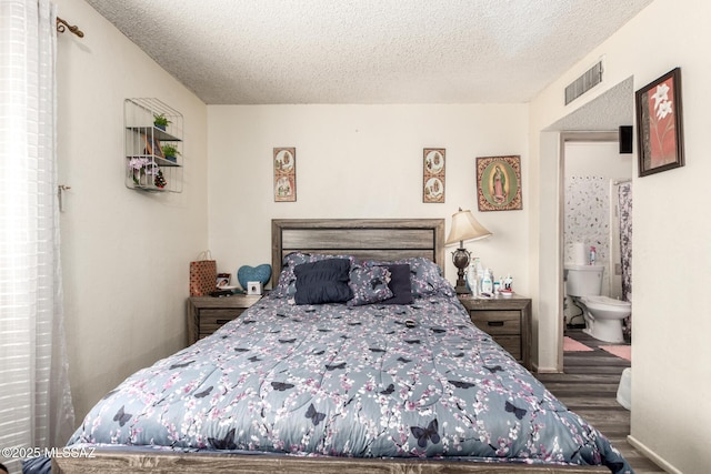
[{"label": "weathered wooden bed frame, both headboard and footboard, without bedding", "polygon": [[[443,219],[272,220],[272,286],[290,252],[377,260],[425,256],[444,269]],[[218,453],[147,453],[97,448],[92,457],[54,457],[52,473],[609,473],[604,466],[495,464],[423,458],[292,457]]]}]

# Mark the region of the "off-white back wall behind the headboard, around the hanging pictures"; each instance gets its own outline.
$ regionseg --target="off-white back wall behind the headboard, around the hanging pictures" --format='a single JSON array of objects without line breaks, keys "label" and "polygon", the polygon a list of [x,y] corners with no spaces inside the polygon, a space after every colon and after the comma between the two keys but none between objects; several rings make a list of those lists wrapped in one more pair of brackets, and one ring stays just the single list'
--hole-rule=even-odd
[{"label": "off-white back wall behind the headboard, around the hanging pictures", "polygon": [[[493,236],[465,246],[528,294],[528,105],[208,107],[210,250],[220,271],[271,260],[276,218],[443,218]],[[297,202],[273,200],[272,149],[297,149]],[[447,149],[445,203],[422,203],[422,149]],[[523,210],[479,212],[477,157],[520,154]],[[455,281],[448,249],[445,274]]]}]

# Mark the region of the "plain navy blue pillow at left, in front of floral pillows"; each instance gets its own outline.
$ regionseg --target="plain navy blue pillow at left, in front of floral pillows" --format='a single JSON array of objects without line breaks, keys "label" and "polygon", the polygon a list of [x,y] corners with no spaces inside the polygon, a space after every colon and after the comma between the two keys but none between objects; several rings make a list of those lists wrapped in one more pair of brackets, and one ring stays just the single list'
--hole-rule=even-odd
[{"label": "plain navy blue pillow at left, in front of floral pillows", "polygon": [[353,297],[348,285],[351,261],[328,259],[294,266],[297,304],[343,303]]}]

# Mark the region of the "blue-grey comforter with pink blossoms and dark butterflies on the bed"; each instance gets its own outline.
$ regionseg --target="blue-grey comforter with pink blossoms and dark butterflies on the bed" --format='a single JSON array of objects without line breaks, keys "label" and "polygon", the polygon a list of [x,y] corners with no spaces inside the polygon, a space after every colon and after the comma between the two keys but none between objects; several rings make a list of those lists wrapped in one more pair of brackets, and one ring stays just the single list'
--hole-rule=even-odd
[{"label": "blue-grey comforter with pink blossoms and dark butterflies on the bed", "polygon": [[264,297],[107,394],[70,440],[83,443],[631,472],[443,295],[352,307]]}]

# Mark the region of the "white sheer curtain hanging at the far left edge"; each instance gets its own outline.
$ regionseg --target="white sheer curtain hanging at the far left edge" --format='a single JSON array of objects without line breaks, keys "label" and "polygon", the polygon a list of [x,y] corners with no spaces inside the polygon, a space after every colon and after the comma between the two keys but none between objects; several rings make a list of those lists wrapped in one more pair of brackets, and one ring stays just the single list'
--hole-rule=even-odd
[{"label": "white sheer curtain hanging at the far left edge", "polygon": [[1,447],[61,446],[73,427],[59,259],[56,14],[49,0],[0,0]]}]

